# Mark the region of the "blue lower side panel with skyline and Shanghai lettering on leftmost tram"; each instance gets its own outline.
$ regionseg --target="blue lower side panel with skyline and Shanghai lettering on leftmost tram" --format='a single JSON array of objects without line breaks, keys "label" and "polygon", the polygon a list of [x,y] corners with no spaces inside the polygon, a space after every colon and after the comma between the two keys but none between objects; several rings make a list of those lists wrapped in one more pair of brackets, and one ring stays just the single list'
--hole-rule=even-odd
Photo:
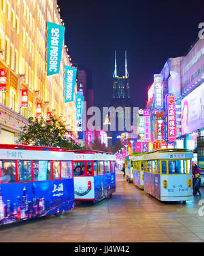
[{"label": "blue lower side panel with skyline and Shanghai lettering on leftmost tram", "polygon": [[75,205],[72,178],[7,183],[0,189],[1,225],[72,210]]}]

